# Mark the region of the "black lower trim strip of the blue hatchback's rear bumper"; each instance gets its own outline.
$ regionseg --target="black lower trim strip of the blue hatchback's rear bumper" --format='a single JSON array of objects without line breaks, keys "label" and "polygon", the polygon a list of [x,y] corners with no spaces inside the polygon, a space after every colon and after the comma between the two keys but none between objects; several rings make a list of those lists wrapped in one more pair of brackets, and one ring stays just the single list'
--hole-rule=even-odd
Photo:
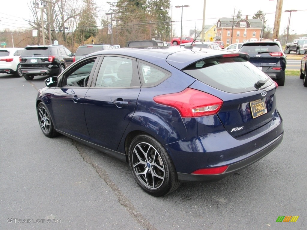
[{"label": "black lower trim strip of the blue hatchback's rear bumper", "polygon": [[253,155],[238,161],[236,163],[230,164],[227,170],[221,174],[215,175],[199,175],[199,174],[187,174],[187,173],[177,173],[178,180],[183,182],[191,182],[191,181],[216,181],[220,180],[230,174],[234,174],[237,171],[240,171],[253,163],[257,162],[261,158],[265,157],[271,151],[273,151],[283,139],[283,133],[279,135],[276,139],[272,140],[270,143],[266,144],[261,148],[261,150],[257,151]]}]

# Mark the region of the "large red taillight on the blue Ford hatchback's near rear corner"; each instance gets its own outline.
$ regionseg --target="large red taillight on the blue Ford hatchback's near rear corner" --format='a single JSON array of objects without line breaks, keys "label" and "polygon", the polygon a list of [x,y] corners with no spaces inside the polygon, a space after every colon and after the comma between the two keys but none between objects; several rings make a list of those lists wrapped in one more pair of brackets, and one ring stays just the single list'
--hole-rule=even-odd
[{"label": "large red taillight on the blue Ford hatchback's near rear corner", "polygon": [[153,98],[153,101],[178,109],[182,117],[203,117],[219,112],[223,101],[211,94],[186,88],[175,94],[164,94]]}]

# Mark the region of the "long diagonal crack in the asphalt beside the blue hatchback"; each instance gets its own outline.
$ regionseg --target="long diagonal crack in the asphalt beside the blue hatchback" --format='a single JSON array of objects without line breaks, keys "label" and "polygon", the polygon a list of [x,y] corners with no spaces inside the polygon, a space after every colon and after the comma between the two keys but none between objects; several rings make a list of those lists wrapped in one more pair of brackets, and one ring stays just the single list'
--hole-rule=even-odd
[{"label": "long diagonal crack in the asphalt beside the blue hatchback", "polygon": [[77,148],[77,150],[79,151],[79,154],[84,159],[84,161],[90,164],[95,169],[99,177],[102,178],[107,183],[107,186],[109,186],[111,190],[115,193],[115,196],[118,198],[119,204],[125,207],[130,213],[130,215],[134,217],[134,219],[144,228],[146,228],[147,230],[157,230],[142,215],[142,213],[138,212],[138,210],[134,207],[134,205],[130,202],[130,200],[122,193],[119,187],[111,180],[107,171],[99,167],[97,164],[95,164],[91,160],[90,156],[87,155],[84,151],[82,151],[82,149],[80,149],[79,142],[72,140],[72,144]]}]

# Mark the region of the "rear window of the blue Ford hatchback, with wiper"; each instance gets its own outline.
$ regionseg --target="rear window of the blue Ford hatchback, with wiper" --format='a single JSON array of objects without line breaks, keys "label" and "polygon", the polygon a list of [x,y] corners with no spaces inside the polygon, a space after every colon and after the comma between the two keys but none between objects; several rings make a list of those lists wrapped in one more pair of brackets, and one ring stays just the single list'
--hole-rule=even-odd
[{"label": "rear window of the blue Ford hatchback, with wiper", "polygon": [[[200,60],[183,69],[197,80],[228,93],[254,91],[258,80],[268,76],[242,57],[217,57]],[[272,84],[267,81],[262,88]]]}]

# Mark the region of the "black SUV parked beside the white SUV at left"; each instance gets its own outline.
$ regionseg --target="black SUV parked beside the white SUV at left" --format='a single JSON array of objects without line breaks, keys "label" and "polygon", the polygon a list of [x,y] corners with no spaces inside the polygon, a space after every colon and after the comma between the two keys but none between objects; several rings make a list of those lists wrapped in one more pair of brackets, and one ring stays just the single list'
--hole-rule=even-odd
[{"label": "black SUV parked beside the white SUV at left", "polygon": [[36,75],[59,75],[73,62],[73,53],[63,45],[29,45],[19,57],[21,73],[26,80]]}]

